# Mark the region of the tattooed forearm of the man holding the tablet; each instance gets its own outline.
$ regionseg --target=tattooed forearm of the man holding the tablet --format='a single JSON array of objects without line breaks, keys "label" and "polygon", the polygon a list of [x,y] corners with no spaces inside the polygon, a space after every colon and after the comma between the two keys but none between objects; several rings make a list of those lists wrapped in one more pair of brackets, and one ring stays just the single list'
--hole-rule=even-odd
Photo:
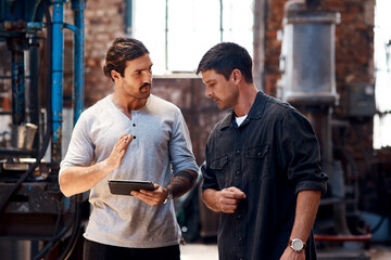
[{"label": "tattooed forearm of the man holding the tablet", "polygon": [[173,198],[180,197],[190,191],[198,179],[198,174],[192,170],[182,170],[175,174],[168,187],[173,191]]}]

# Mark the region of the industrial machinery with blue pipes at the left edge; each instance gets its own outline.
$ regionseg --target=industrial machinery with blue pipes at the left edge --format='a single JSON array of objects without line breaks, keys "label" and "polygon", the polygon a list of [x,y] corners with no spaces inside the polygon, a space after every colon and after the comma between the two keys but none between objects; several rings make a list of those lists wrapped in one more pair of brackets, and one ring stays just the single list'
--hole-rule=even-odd
[{"label": "industrial machinery with blue pipes at the left edge", "polygon": [[0,259],[65,259],[83,195],[58,184],[62,158],[64,29],[74,35],[74,121],[84,101],[85,0],[1,0]]}]

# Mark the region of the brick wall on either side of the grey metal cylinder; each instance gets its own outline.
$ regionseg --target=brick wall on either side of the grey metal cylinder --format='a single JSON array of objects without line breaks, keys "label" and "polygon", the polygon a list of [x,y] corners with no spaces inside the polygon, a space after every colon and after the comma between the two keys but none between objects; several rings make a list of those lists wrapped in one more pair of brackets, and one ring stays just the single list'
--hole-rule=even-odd
[{"label": "brick wall on either side of the grey metal cylinder", "polygon": [[[270,95],[276,94],[280,79],[278,68],[286,0],[268,0],[268,17],[265,46],[265,86]],[[355,83],[373,84],[374,79],[374,6],[375,0],[323,0],[321,8],[340,13],[341,23],[336,25],[336,84],[340,95],[332,117],[342,120],[345,127],[335,129],[338,143],[344,144],[357,161],[361,173],[370,171],[373,159],[373,119],[349,115],[349,93]],[[340,135],[342,134],[342,139]]]}]

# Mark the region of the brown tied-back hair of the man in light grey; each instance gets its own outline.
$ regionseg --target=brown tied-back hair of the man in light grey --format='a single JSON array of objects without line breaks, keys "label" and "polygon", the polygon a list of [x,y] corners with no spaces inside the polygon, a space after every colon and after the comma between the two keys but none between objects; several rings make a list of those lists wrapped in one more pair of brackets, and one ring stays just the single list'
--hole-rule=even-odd
[{"label": "brown tied-back hair of the man in light grey", "polygon": [[112,80],[112,70],[119,73],[124,77],[126,62],[138,58],[147,53],[149,51],[141,41],[128,37],[118,37],[108,50],[103,73]]}]

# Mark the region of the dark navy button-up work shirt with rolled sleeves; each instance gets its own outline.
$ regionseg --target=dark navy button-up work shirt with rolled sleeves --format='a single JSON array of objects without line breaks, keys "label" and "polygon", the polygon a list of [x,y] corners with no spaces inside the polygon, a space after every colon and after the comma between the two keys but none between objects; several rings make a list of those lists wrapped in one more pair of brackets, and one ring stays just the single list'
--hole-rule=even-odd
[{"label": "dark navy button-up work shirt with rolled sleeves", "polygon": [[[292,231],[298,193],[326,191],[310,121],[260,91],[240,127],[234,112],[215,126],[205,157],[203,190],[236,186],[247,195],[235,213],[220,214],[219,259],[278,260]],[[316,259],[312,234],[306,244],[306,259]]]}]

